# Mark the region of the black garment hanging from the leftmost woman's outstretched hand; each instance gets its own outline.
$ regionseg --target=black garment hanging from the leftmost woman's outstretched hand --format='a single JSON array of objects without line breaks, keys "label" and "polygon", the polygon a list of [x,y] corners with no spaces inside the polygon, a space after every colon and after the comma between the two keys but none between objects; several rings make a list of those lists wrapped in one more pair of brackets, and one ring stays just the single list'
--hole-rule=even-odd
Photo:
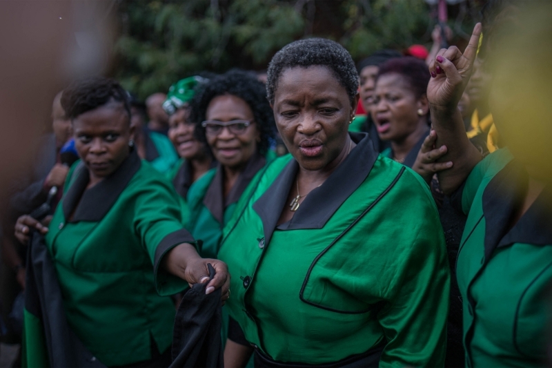
[{"label": "black garment hanging from the leftmost woman's outstretched hand", "polygon": [[[209,276],[215,269],[208,264]],[[221,289],[206,295],[207,283],[195,284],[182,298],[172,332],[172,364],[177,367],[224,368],[221,339]]]}]

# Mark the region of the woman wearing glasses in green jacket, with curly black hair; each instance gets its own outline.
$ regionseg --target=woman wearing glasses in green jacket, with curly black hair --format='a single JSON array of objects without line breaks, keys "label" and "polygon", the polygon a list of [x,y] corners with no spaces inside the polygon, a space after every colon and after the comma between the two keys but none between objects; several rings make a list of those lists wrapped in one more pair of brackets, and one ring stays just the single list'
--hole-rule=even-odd
[{"label": "woman wearing glasses in green jacket, with curly black hair", "polygon": [[201,240],[200,254],[216,258],[222,229],[250,181],[272,157],[274,117],[264,85],[254,75],[232,70],[210,80],[192,101],[190,119],[197,124],[216,168],[188,191],[190,220],[186,229]]}]

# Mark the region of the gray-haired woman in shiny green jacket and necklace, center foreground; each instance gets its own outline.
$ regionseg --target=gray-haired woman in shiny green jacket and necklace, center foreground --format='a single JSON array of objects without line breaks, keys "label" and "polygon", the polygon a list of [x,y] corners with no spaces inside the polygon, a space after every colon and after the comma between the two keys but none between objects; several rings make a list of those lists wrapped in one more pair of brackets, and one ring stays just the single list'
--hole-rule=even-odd
[{"label": "gray-haired woman in shiny green jacket and necklace, center foreground", "polygon": [[357,88],[333,41],[295,41],[270,62],[268,100],[290,155],[268,165],[224,231],[227,306],[243,330],[229,334],[232,366],[251,349],[257,367],[443,365],[437,209],[419,175],[348,133]]}]

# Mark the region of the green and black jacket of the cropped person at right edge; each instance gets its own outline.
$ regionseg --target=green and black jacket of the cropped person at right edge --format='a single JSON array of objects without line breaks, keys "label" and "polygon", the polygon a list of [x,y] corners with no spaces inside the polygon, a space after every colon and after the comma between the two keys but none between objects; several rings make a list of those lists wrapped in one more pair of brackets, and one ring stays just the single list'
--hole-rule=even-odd
[{"label": "green and black jacket of the cropped person at right edge", "polygon": [[477,164],[453,197],[468,214],[456,270],[468,367],[546,365],[552,187],[510,227],[528,182],[503,148]]}]

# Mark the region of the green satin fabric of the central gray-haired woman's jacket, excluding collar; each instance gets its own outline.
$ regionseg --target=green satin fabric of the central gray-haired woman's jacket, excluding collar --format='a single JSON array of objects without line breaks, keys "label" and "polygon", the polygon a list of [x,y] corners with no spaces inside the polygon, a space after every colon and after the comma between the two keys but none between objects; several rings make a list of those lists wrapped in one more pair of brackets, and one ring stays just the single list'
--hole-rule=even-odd
[{"label": "green satin fabric of the central gray-haired woman's jacket, excluding collar", "polygon": [[427,185],[404,168],[391,186],[402,165],[380,156],[322,229],[276,229],[260,246],[264,228],[253,204],[290,159],[268,166],[219,251],[233,275],[226,305],[248,341],[275,360],[316,365],[386,339],[380,367],[442,366],[450,275]]}]

